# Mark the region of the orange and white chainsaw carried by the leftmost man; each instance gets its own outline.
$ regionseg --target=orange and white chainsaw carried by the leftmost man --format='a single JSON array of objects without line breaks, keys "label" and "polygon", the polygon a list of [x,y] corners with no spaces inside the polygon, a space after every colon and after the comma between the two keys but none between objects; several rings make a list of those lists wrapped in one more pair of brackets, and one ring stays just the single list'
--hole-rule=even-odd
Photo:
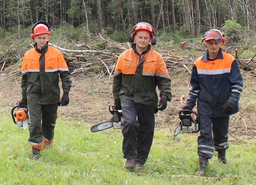
[{"label": "orange and white chainsaw carried by the leftmost man", "polygon": [[[14,109],[16,108],[17,108],[17,111],[14,113]],[[21,127],[22,130],[25,130],[29,126],[30,116],[29,116],[29,107],[27,105],[25,105],[24,108],[16,105],[12,108],[11,113],[12,113],[13,122],[18,127]],[[16,117],[16,120],[14,117]]]}]

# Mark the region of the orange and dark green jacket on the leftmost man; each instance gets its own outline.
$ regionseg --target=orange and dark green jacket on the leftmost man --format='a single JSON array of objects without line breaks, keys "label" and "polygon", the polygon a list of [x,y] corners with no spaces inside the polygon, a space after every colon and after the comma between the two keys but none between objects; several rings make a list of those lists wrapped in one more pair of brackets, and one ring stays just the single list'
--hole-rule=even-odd
[{"label": "orange and dark green jacket on the leftmost man", "polygon": [[27,98],[28,103],[48,105],[59,102],[60,105],[59,74],[63,91],[69,92],[71,74],[61,52],[48,46],[48,42],[39,50],[35,43],[23,58],[22,97]]}]

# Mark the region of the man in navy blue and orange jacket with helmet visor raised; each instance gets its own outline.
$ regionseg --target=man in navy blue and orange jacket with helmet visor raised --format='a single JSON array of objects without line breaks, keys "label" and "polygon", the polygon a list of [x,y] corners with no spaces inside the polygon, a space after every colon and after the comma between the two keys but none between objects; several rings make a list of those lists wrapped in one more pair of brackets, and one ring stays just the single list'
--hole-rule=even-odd
[{"label": "man in navy blue and orange jacket with helmet visor raised", "polygon": [[193,64],[192,88],[182,108],[192,110],[197,100],[200,118],[197,154],[200,166],[196,175],[199,176],[206,172],[208,159],[212,158],[214,150],[218,152],[218,160],[226,164],[229,115],[238,112],[243,88],[237,60],[221,50],[225,43],[224,34],[218,29],[211,29],[204,34],[203,41],[208,50]]}]

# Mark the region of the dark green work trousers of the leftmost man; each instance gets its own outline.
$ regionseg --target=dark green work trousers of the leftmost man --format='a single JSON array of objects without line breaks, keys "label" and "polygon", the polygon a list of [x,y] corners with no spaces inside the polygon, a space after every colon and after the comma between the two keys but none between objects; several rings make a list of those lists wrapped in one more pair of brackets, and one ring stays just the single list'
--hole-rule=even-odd
[{"label": "dark green work trousers of the leftmost man", "polygon": [[48,141],[53,139],[54,127],[57,119],[57,109],[58,103],[50,105],[29,103],[29,143],[32,146],[42,145],[43,137]]}]

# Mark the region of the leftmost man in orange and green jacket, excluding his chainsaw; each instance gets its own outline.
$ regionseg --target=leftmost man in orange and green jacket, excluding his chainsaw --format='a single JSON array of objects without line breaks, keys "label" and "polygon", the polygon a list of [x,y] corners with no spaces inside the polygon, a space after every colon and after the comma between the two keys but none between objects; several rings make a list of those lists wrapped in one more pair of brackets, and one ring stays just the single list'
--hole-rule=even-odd
[{"label": "leftmost man in orange and green jacket, excluding his chainsaw", "polygon": [[[37,159],[44,145],[51,145],[58,106],[68,105],[71,74],[61,52],[48,46],[50,25],[35,23],[31,38],[34,48],[27,51],[22,63],[22,100],[19,107],[29,105],[29,143],[33,159]],[[59,75],[63,96],[60,99]],[[41,123],[42,121],[42,123]]]}]

